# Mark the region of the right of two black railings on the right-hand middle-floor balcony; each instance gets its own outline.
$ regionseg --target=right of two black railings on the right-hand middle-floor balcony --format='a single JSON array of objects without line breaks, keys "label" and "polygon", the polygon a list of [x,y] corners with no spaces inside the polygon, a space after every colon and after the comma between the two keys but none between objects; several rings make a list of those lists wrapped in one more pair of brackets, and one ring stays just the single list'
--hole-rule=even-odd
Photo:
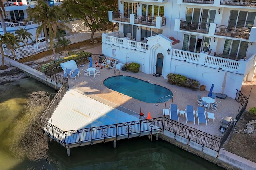
[{"label": "right of two black railings on the right-hand middle-floor balcony", "polygon": [[215,35],[249,39],[251,28],[216,25]]}]

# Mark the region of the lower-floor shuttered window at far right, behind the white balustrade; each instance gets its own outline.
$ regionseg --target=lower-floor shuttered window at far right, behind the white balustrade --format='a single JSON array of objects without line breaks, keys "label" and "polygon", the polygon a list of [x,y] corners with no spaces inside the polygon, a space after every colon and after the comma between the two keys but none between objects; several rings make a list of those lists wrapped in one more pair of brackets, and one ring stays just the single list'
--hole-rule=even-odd
[{"label": "lower-floor shuttered window at far right, behind the white balustrade", "polygon": [[246,56],[249,42],[226,39],[223,54],[236,56],[241,59]]}]

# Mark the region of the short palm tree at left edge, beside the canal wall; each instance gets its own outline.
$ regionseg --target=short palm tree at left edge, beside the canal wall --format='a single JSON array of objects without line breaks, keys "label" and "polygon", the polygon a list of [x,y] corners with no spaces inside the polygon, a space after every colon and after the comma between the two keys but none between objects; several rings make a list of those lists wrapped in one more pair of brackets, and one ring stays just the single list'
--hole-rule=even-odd
[{"label": "short palm tree at left edge, beside the canal wall", "polygon": [[20,45],[13,33],[7,32],[4,35],[0,34],[0,48],[2,55],[2,66],[0,67],[0,69],[2,70],[8,69],[8,66],[4,65],[4,44],[12,47],[14,47],[15,45]]}]

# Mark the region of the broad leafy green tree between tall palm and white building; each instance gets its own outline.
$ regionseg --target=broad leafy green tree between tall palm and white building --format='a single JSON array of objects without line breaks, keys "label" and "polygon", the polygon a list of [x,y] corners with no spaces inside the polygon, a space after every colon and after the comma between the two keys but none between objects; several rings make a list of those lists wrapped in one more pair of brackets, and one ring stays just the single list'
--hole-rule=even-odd
[{"label": "broad leafy green tree between tall palm and white building", "polygon": [[65,0],[62,7],[66,8],[71,18],[84,20],[84,25],[90,28],[91,41],[94,32],[107,30],[112,22],[108,21],[108,11],[114,10],[118,0]]}]

